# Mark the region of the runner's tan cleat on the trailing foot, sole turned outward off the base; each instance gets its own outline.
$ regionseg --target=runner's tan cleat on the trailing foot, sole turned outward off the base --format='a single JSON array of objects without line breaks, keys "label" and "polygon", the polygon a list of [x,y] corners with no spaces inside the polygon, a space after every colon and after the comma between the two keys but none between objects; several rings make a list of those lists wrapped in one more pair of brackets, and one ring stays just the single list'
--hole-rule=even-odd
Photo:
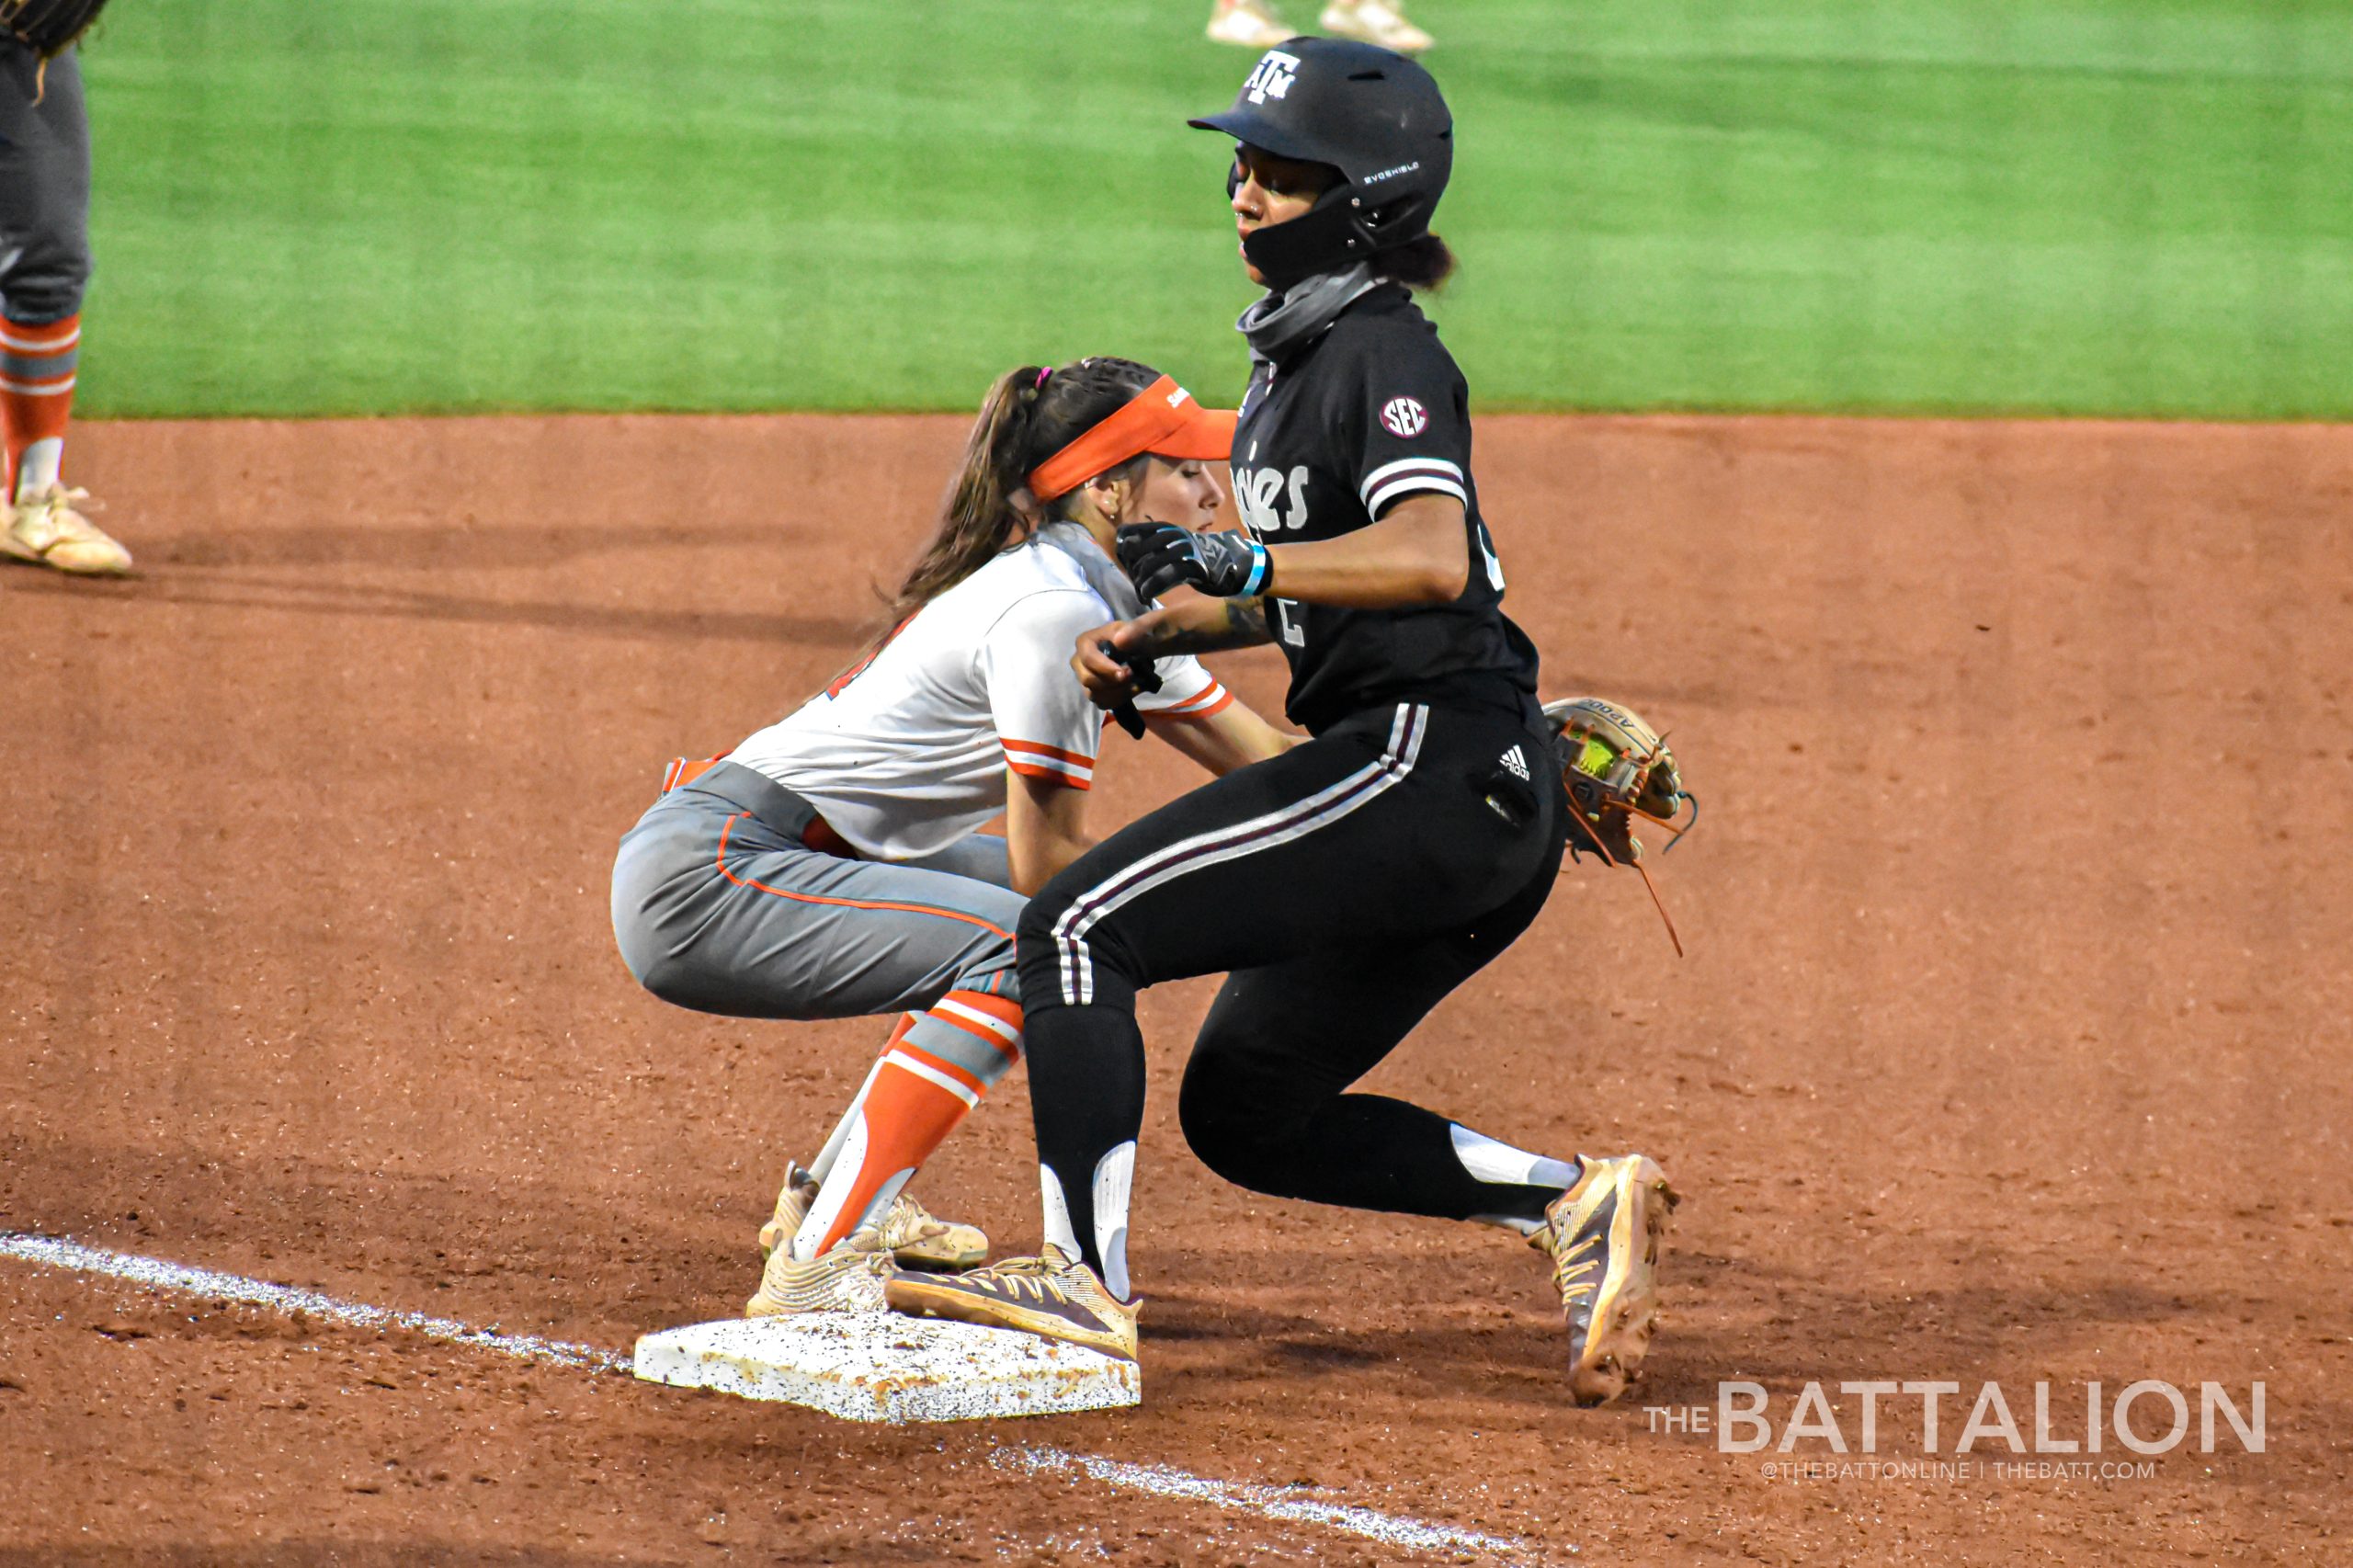
[{"label": "runner's tan cleat on the trailing foot, sole turned outward off the base", "polygon": [[1544,1229],[1527,1238],[1553,1260],[1579,1406],[1607,1406],[1642,1370],[1659,1316],[1659,1238],[1680,1201],[1642,1154],[1586,1156],[1577,1187],[1553,1198]]}]

